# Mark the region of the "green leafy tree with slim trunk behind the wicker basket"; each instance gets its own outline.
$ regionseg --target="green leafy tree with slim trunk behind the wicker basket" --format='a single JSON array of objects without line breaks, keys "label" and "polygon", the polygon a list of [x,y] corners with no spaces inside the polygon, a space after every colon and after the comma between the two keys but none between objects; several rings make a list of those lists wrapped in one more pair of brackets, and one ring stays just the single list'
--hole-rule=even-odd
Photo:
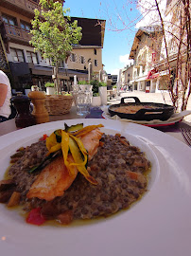
[{"label": "green leafy tree with slim trunk behind the wicker basket", "polygon": [[52,62],[54,82],[57,92],[60,92],[58,79],[59,64],[67,61],[72,51],[72,45],[81,39],[81,27],[78,21],[70,22],[67,15],[69,9],[62,9],[62,4],[54,0],[40,0],[41,11],[34,10],[35,17],[31,21],[32,38],[30,44],[35,50],[40,50],[43,58]]}]

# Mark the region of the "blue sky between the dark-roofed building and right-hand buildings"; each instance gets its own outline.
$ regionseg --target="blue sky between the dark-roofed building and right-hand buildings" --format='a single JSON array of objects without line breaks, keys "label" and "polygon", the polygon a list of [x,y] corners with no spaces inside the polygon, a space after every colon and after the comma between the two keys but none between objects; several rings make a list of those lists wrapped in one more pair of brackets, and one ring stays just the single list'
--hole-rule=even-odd
[{"label": "blue sky between the dark-roofed building and right-hand buildings", "polygon": [[[134,23],[140,14],[130,0],[65,0],[64,8],[70,8],[70,16],[106,20],[102,62],[108,74],[118,74],[118,69],[128,64],[128,54],[136,32]],[[117,14],[119,14],[117,16]],[[123,24],[122,22],[125,22]],[[110,24],[112,21],[112,24]],[[119,31],[129,25],[127,29]],[[113,31],[117,27],[118,31]],[[116,30],[117,30],[116,29]]]}]

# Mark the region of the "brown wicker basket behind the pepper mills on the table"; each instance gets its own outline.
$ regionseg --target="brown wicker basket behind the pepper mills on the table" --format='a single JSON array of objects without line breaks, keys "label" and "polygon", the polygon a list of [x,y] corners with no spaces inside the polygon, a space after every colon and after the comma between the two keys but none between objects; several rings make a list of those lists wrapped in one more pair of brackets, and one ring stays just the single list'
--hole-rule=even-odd
[{"label": "brown wicker basket behind the pepper mills on the table", "polygon": [[46,95],[45,108],[50,116],[63,115],[70,112],[73,97],[70,95]]}]

